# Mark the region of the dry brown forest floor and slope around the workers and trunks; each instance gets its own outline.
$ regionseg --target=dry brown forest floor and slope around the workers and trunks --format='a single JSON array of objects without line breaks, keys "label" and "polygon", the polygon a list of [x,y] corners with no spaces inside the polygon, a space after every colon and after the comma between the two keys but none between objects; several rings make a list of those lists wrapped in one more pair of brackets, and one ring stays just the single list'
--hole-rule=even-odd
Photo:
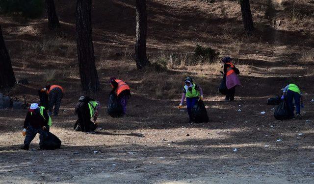
[{"label": "dry brown forest floor and slope around the workers and trunks", "polygon": [[[27,110],[0,110],[0,184],[314,184],[314,4],[311,0],[251,2],[257,29],[242,33],[239,5],[232,0],[148,0],[148,53],[167,69],[136,70],[132,59],[134,3],[93,1],[93,40],[102,91],[96,134],[72,130],[80,89],[75,42],[75,0],[55,0],[57,33],[45,19],[1,17],[17,79],[11,94],[37,102],[48,83],[64,87],[51,132],[59,150],[20,150]],[[121,20],[121,21],[117,21]],[[171,34],[170,34],[171,33]],[[242,86],[235,102],[217,93],[222,64],[188,65],[196,44],[235,58]],[[191,75],[205,94],[209,123],[190,124],[177,106],[183,79]],[[108,79],[131,86],[128,113],[106,115]],[[266,105],[289,83],[305,96],[302,120],[277,121]],[[265,114],[261,114],[265,112]],[[234,151],[234,150],[237,151]]]}]

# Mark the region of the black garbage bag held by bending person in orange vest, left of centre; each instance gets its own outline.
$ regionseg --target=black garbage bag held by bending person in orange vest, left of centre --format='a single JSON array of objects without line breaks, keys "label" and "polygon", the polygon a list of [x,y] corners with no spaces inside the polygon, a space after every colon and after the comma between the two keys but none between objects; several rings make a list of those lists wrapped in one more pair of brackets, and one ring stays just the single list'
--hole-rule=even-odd
[{"label": "black garbage bag held by bending person in orange vest, left of centre", "polygon": [[114,91],[111,91],[109,95],[107,113],[111,117],[120,117],[123,114],[122,105]]}]

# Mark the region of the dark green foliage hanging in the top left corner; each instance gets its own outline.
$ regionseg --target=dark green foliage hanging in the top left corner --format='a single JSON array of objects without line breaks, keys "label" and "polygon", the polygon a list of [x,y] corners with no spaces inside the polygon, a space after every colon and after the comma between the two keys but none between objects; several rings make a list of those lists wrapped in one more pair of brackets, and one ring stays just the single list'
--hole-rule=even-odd
[{"label": "dark green foliage hanging in the top left corner", "polygon": [[38,18],[43,14],[44,0],[0,0],[0,13]]}]

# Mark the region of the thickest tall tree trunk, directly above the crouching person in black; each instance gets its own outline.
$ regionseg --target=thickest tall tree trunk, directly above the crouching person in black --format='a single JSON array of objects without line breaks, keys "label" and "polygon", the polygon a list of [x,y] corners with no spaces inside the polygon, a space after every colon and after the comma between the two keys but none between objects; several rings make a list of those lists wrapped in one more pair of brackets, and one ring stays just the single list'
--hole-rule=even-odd
[{"label": "thickest tall tree trunk, directly above the crouching person in black", "polygon": [[91,0],[77,1],[76,38],[78,64],[81,85],[86,92],[96,92],[100,89],[92,41],[91,7]]}]

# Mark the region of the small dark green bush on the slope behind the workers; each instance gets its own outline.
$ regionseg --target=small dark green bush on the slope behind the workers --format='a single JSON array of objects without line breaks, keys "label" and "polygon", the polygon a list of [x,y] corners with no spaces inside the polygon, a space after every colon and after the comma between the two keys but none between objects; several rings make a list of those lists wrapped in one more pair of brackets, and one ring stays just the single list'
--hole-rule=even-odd
[{"label": "small dark green bush on the slope behind the workers", "polygon": [[210,48],[196,45],[194,56],[196,60],[212,63],[220,55],[219,52]]}]

